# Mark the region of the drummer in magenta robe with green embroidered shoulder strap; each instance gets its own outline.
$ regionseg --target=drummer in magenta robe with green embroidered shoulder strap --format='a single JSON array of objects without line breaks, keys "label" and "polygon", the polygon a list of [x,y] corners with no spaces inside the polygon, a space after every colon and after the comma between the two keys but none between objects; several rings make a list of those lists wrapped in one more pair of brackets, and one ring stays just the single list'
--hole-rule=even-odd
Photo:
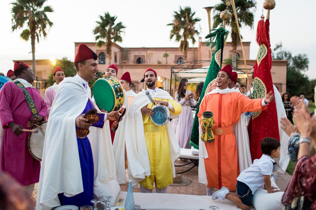
[{"label": "drummer in magenta robe with green embroidered shoulder strap", "polygon": [[14,82],[3,85],[0,91],[0,120],[3,128],[0,170],[9,173],[31,193],[40,178],[40,161],[35,160],[28,151],[29,132],[22,129],[32,129],[34,124],[45,120],[47,107],[40,97],[40,92],[30,84],[34,81],[31,68],[21,61],[16,61],[14,74],[17,78],[14,81],[22,84],[32,97],[37,115],[32,114],[20,87]]}]

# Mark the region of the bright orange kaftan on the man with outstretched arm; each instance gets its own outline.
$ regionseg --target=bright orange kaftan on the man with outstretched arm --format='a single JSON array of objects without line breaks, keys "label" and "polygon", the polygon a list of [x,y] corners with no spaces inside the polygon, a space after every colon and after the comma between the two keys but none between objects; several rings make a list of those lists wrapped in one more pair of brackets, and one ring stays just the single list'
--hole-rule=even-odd
[{"label": "bright orange kaftan on the man with outstretched arm", "polygon": [[[214,114],[215,127],[229,127],[238,123],[240,114],[264,110],[262,99],[249,99],[238,92],[227,94],[208,94],[204,96],[197,114],[200,124],[203,112]],[[215,135],[215,141],[205,143],[208,158],[204,159],[208,187],[220,189],[228,187],[236,190],[236,178],[239,175],[237,148],[234,133]]]}]

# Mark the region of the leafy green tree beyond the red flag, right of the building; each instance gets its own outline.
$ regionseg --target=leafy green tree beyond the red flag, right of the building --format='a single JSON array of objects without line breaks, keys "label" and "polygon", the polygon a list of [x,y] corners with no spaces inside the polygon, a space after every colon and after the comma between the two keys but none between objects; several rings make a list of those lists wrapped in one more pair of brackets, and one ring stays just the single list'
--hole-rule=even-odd
[{"label": "leafy green tree beyond the red flag, right of the building", "polygon": [[303,93],[308,99],[314,98],[316,80],[310,80],[307,75],[302,73],[308,70],[309,60],[306,54],[293,56],[290,51],[283,49],[282,43],[279,43],[273,49],[272,58],[274,60],[288,60],[286,90],[290,95],[300,95]]}]

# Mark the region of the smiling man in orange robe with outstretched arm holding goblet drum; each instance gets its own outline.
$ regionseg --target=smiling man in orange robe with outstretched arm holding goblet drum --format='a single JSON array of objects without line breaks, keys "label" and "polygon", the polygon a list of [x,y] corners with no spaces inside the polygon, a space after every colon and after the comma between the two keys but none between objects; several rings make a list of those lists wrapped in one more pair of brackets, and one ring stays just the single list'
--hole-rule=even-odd
[{"label": "smiling man in orange robe with outstretched arm holding goblet drum", "polygon": [[[212,131],[215,140],[199,143],[199,182],[206,184],[207,195],[212,194],[212,188],[220,189],[224,185],[230,191],[236,190],[239,167],[233,125],[238,123],[240,114],[264,110],[274,100],[272,92],[263,99],[249,99],[232,91],[228,88],[231,76],[232,67],[228,64],[217,74],[217,88],[204,96],[197,114],[200,125],[203,112],[211,111],[214,114]],[[205,132],[203,126],[201,131]]]}]

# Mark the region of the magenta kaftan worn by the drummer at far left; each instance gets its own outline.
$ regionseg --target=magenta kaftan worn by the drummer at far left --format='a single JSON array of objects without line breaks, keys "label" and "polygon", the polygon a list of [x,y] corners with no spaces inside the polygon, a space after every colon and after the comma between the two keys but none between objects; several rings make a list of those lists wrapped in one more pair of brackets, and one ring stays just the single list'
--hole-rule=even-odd
[{"label": "magenta kaftan worn by the drummer at far left", "polygon": [[[40,92],[32,87],[25,89],[32,97],[39,115],[46,119],[47,107]],[[35,160],[28,151],[29,132],[24,132],[17,137],[7,124],[15,122],[17,125],[30,129],[27,127],[27,122],[31,117],[32,114],[22,89],[13,82],[4,84],[0,91],[0,119],[3,127],[0,170],[9,173],[23,186],[39,182],[40,161]]]}]

